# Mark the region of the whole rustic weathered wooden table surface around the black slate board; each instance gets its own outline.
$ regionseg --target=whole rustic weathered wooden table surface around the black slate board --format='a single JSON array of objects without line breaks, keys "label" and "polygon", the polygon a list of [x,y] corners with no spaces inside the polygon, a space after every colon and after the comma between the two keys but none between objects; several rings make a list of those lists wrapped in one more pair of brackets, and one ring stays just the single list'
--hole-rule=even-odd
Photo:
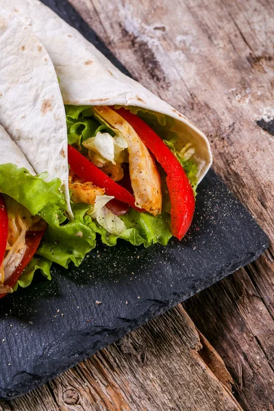
[{"label": "whole rustic weathered wooden table surface around the black slate board", "polygon": [[42,388],[0,401],[0,410],[273,411],[274,138],[256,121],[274,116],[274,3],[71,3],[138,81],[207,134],[215,171],[271,247]]}]

